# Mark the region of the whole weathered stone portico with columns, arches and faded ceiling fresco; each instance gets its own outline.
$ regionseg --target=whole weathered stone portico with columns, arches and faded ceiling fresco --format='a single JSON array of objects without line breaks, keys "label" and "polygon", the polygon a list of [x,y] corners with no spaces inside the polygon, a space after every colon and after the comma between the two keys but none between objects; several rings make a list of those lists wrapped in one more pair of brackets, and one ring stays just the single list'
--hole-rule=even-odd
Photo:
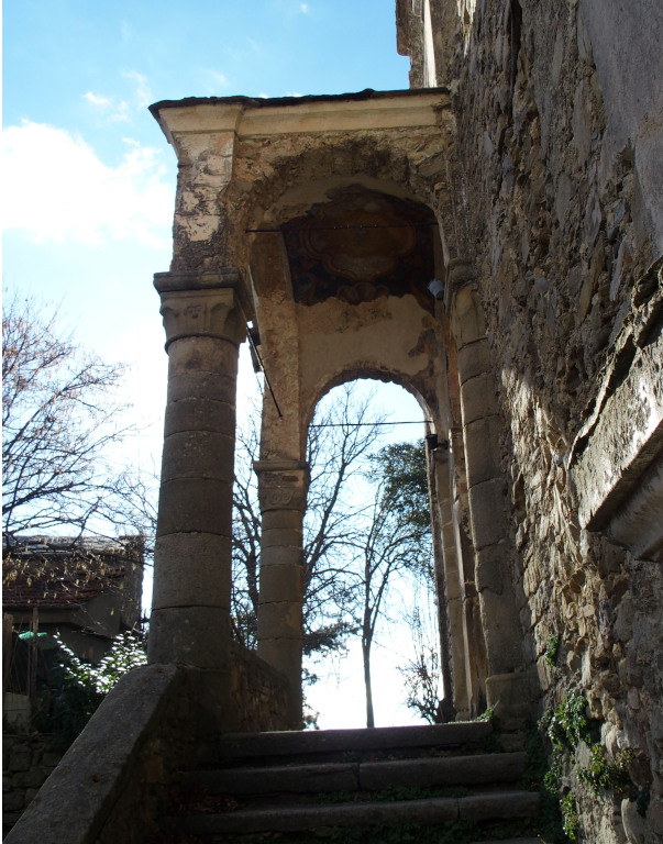
[{"label": "whole weathered stone portico with columns, arches and faded ceiling fresco", "polygon": [[496,389],[456,210],[449,91],[190,99],[152,111],[180,175],[172,271],[155,277],[170,370],[151,659],[203,671],[216,701],[206,711],[224,723],[233,403],[248,326],[270,386],[255,465],[258,655],[289,680],[289,725],[301,724],[307,425],[328,390],[357,377],[404,386],[449,444],[429,451],[433,518],[445,529],[435,567],[447,693],[461,717],[507,699],[515,711],[510,689],[522,700],[526,675]]}]

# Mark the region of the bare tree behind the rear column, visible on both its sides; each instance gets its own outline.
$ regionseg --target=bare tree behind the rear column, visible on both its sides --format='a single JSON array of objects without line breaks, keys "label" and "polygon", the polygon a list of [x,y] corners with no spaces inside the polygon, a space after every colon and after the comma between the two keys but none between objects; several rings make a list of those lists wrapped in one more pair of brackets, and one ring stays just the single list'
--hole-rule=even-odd
[{"label": "bare tree behind the rear column, visible on both its sides", "polygon": [[[356,596],[350,576],[358,517],[366,501],[352,481],[366,469],[382,435],[384,415],[371,412],[372,395],[357,399],[351,385],[322,401],[309,426],[311,480],[303,525],[305,654],[336,651],[355,629]],[[257,411],[237,426],[233,491],[233,636],[255,645],[261,518],[253,460],[259,435]]]}]

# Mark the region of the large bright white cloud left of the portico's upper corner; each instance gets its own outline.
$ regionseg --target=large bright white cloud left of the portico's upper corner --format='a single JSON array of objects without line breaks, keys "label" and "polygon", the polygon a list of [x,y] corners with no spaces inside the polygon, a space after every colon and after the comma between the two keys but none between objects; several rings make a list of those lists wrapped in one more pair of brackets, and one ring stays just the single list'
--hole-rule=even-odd
[{"label": "large bright white cloud left of the portico's upper corner", "polygon": [[173,189],[159,151],[130,142],[108,167],[80,135],[23,121],[2,135],[4,229],[33,241],[96,246],[129,240],[170,242]]}]

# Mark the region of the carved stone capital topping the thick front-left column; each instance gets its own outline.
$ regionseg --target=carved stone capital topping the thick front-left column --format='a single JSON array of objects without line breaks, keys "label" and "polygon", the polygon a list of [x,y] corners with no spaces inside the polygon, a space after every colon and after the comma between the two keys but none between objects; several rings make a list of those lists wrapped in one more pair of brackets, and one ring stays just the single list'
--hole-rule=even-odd
[{"label": "carved stone capital topping the thick front-left column", "polygon": [[162,300],[159,313],[166,349],[181,337],[218,337],[239,345],[246,332],[240,273],[157,273],[154,286]]}]

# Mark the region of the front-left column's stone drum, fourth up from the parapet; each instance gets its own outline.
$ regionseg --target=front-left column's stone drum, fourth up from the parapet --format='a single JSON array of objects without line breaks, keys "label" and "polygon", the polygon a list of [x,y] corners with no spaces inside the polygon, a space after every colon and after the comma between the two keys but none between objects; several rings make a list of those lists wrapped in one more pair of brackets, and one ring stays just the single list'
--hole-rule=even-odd
[{"label": "front-left column's stone drum, fourth up from the parapet", "polygon": [[175,478],[214,478],[232,484],[233,462],[234,435],[211,431],[170,434],[164,441],[162,482]]}]

